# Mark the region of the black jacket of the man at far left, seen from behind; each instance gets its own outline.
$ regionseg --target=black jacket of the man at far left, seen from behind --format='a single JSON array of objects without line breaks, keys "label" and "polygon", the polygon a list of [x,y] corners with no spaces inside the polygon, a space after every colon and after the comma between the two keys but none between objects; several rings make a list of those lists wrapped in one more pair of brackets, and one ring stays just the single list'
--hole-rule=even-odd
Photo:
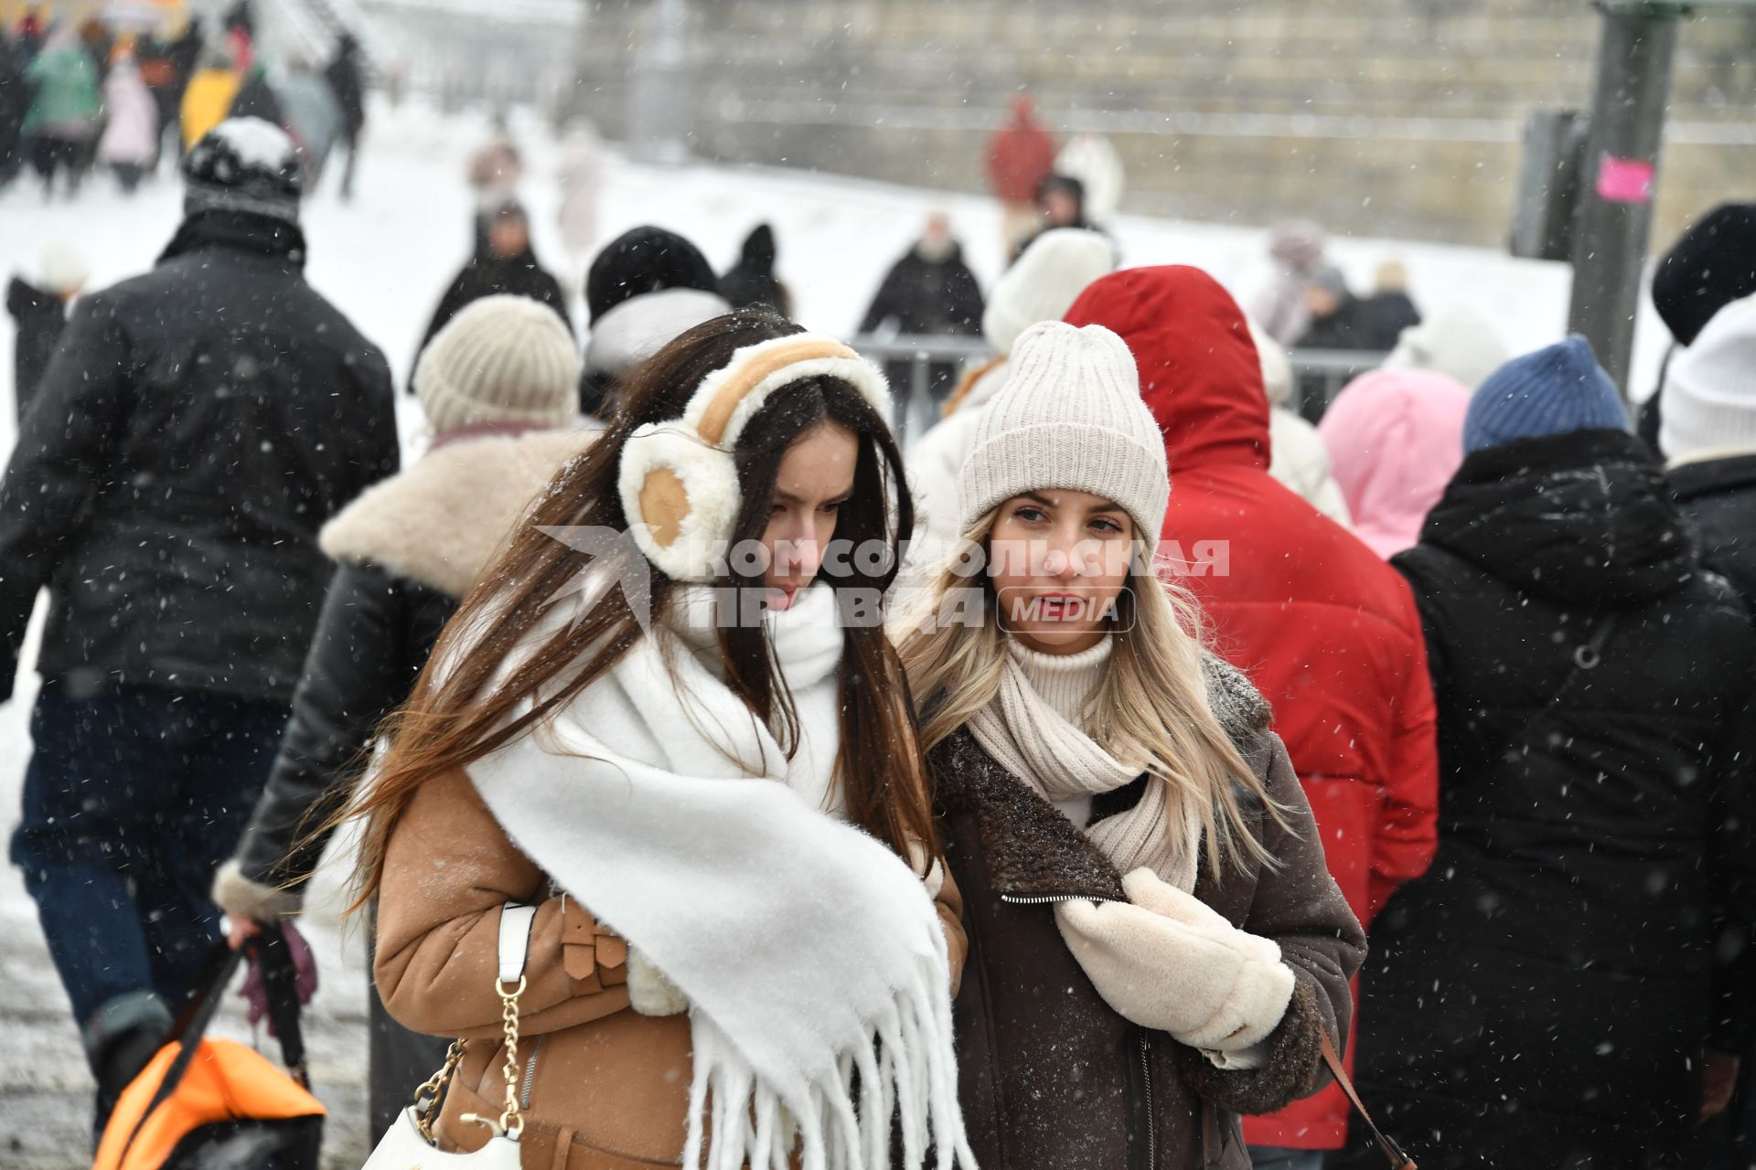
[{"label": "black jacket of the man at far left, seen from behind", "polygon": [[397,467],[390,368],[302,251],[202,212],[74,309],[0,486],[0,696],[49,586],[46,679],[291,698],[318,530]]}]

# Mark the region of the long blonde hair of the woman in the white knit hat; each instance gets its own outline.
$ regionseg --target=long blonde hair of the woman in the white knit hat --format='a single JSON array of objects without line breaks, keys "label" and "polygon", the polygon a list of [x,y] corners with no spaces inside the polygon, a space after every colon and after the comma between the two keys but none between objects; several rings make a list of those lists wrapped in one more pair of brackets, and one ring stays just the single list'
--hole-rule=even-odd
[{"label": "long blonde hair of the woman in the white knit hat", "polygon": [[[994,509],[975,523],[964,535],[966,551],[987,547],[997,516]],[[932,579],[903,617],[897,639],[924,751],[987,707],[1006,668],[1008,635],[996,619],[992,589],[985,574],[978,586],[964,567],[959,558]],[[982,591],[982,621],[952,616],[959,609],[957,589]],[[1208,686],[1201,633],[1201,609],[1185,589],[1154,574],[1129,574],[1110,635],[1115,649],[1092,696],[1087,730],[1110,754],[1143,761],[1143,770],[1169,784],[1177,798],[1194,802],[1213,874],[1227,858],[1238,867],[1247,858],[1273,865],[1275,858],[1250,833],[1240,789],[1259,800],[1277,823],[1291,826],[1220,723],[1231,714],[1231,700]]]}]

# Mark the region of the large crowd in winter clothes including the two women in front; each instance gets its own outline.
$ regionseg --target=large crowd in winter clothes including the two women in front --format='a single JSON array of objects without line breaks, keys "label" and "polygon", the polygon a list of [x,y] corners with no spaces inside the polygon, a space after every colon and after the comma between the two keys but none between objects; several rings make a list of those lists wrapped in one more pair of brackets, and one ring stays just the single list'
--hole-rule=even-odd
[{"label": "large crowd in winter clothes including the two women in front", "polygon": [[[860,321],[992,353],[904,451],[773,225],[558,279],[502,125],[404,465],[246,98],[153,272],[16,310],[12,860],[98,1130],[353,824],[374,1126],[444,1065],[446,1151],[506,1100],[525,1166],[1375,1165],[1333,1045],[1429,1170],[1749,1165],[1749,207],[1658,265],[1642,437],[1582,339],[1357,298],[1310,225],[1240,296],[1126,267],[1020,103],[1011,267],[934,216]],[[1385,358],[1313,424],[1289,347]]]}]

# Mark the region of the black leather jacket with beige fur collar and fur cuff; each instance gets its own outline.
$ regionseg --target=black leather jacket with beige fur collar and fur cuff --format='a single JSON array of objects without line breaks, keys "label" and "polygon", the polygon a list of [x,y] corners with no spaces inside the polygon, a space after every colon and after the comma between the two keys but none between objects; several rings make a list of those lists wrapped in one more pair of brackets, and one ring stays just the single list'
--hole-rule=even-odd
[{"label": "black leather jacket with beige fur collar and fur cuff", "polygon": [[[355,500],[323,530],[335,577],[269,782],[221,875],[218,902],[270,919],[316,868],[362,751],[409,696],[457,603],[530,502],[590,435],[536,432],[450,442]],[[242,879],[246,886],[227,886]]]}]

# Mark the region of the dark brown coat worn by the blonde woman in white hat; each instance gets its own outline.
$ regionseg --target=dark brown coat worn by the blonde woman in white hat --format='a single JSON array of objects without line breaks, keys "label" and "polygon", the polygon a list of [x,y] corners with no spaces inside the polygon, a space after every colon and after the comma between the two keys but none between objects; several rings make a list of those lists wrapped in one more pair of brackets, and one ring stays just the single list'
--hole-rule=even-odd
[{"label": "dark brown coat worn by the blonde woman in white hat", "polygon": [[[931,754],[945,856],[969,942],[954,1002],[959,1102],[983,1170],[1247,1170],[1238,1114],[1273,1112],[1328,1081],[1321,1035],[1347,1042],[1349,979],[1364,935],[1324,868],[1322,842],[1268,703],[1215,665],[1236,712],[1227,731],[1292,830],[1256,807],[1252,831],[1278,861],[1213,874],[1194,895],[1233,926],[1280,944],[1296,984],[1257,1070],[1129,1023],[1092,986],[1055,926],[1054,903],[1122,900],[1115,867],[1054,805],[957,731]],[[1136,781],[1094,817],[1136,803]],[[1177,979],[1177,972],[1166,972]]]}]

